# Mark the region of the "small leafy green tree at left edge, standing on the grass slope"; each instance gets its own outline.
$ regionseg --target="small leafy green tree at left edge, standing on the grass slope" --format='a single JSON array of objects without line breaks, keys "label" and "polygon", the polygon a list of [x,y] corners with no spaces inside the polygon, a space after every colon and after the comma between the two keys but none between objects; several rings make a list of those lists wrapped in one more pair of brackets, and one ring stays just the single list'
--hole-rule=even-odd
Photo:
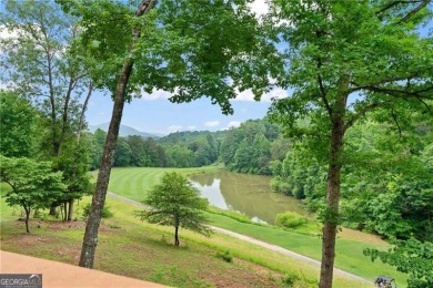
[{"label": "small leafy green tree at left edge, standing on the grass slope", "polygon": [[61,197],[66,185],[61,172],[52,172],[50,162],[29,158],[8,158],[0,155],[0,181],[8,183],[12,191],[6,195],[8,205],[19,205],[26,212],[26,232],[29,229],[30,213],[34,208],[49,207]]}]

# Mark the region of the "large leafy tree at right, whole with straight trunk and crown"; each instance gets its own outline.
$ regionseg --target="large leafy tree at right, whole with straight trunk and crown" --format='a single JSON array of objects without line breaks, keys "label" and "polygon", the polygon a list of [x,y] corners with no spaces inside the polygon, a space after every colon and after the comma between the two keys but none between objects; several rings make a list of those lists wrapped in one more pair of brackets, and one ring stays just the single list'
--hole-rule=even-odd
[{"label": "large leafy tree at right, whole with straight trunk and crown", "polygon": [[322,288],[332,286],[346,131],[373,111],[397,125],[411,111],[432,114],[433,43],[416,34],[430,2],[275,0],[263,20],[279,43],[270,55],[280,55],[268,60],[268,76],[293,90],[274,101],[271,115],[328,163]]}]

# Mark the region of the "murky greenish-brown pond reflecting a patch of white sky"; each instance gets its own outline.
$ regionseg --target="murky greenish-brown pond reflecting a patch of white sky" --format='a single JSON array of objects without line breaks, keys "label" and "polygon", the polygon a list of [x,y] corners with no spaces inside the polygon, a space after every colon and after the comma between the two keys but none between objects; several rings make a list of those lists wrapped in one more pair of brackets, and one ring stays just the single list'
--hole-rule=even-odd
[{"label": "murky greenish-brown pond reflecting a patch of white sky", "polygon": [[218,172],[192,175],[190,179],[211,205],[238,210],[255,222],[273,224],[275,215],[286,210],[308,215],[300,200],[272,193],[269,176]]}]

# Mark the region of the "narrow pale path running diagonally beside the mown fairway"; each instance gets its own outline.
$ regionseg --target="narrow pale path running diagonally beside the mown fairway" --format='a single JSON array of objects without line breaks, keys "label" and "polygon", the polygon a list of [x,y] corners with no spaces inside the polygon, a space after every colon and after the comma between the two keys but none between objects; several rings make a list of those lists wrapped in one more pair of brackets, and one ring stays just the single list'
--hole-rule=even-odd
[{"label": "narrow pale path running diagonally beside the mown fairway", "polygon": [[[118,195],[115,193],[108,192],[107,194],[109,196],[113,197],[113,198],[118,198],[118,199],[120,199],[122,202],[132,204],[134,206],[143,207],[143,208],[145,207],[145,205],[141,204],[140,202],[129,199],[129,198],[120,196],[120,195]],[[276,245],[273,245],[273,244],[269,244],[269,243],[255,239],[253,237],[250,237],[250,236],[246,236],[246,235],[242,235],[242,234],[238,234],[238,233],[234,233],[234,232],[231,232],[231,230],[228,230],[228,229],[223,229],[223,228],[220,228],[220,227],[215,227],[215,226],[210,226],[210,227],[213,230],[218,232],[218,233],[230,235],[230,236],[235,237],[238,239],[255,244],[258,246],[268,248],[268,249],[273,250],[273,251],[281,253],[283,255],[290,256],[292,258],[299,259],[301,261],[304,261],[304,263],[308,263],[308,264],[311,264],[311,265],[314,265],[314,266],[318,266],[318,267],[321,266],[321,263],[315,260],[315,259],[312,259],[310,257],[306,257],[306,256],[303,256],[301,254],[294,253],[292,250],[288,250],[285,248],[280,247],[280,246],[276,246]],[[360,277],[358,275],[354,275],[354,274],[351,274],[351,272],[346,272],[346,271],[341,270],[339,268],[334,268],[334,274],[335,275],[341,275],[341,276],[344,276],[344,277],[348,277],[348,278],[351,278],[351,279],[356,279],[356,280],[360,280],[360,281],[372,284],[372,281],[370,281],[370,280],[367,280],[365,278],[362,278],[362,277]]]}]

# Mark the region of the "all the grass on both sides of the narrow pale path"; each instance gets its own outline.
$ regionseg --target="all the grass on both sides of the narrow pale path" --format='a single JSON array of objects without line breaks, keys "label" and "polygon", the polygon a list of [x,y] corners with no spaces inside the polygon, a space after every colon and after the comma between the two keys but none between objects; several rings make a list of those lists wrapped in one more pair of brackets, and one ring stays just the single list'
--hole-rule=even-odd
[{"label": "all the grass on both sides of the narrow pale path", "polygon": [[[204,173],[218,169],[178,169],[183,174]],[[135,200],[141,200],[145,191],[154,185],[167,171],[162,168],[115,168],[110,181],[110,191]],[[1,188],[4,194],[4,186]],[[75,215],[90,197],[80,202]],[[268,250],[230,236],[214,234],[204,238],[181,230],[181,248],[172,245],[172,229],[140,222],[134,217],[137,206],[108,197],[107,204],[114,217],[103,219],[97,249],[95,268],[151,280],[177,287],[316,287],[319,268],[279,253]],[[83,222],[62,223],[32,219],[31,235],[26,235],[23,223],[17,222],[19,209],[8,207],[1,199],[1,249],[32,255],[41,258],[78,264]],[[208,214],[212,225],[250,235],[268,243],[295,250],[312,258],[320,258],[320,239],[269,226],[245,224],[218,214]],[[363,241],[340,239],[338,244],[338,266],[354,274],[374,279],[380,274],[395,277],[395,272],[384,265],[374,264],[360,253],[367,245]],[[234,264],[216,258],[216,253],[230,250]],[[403,287],[404,276],[399,276],[399,287]],[[230,284],[230,285],[229,285]],[[341,276],[335,276],[334,287],[370,287]]]}]

